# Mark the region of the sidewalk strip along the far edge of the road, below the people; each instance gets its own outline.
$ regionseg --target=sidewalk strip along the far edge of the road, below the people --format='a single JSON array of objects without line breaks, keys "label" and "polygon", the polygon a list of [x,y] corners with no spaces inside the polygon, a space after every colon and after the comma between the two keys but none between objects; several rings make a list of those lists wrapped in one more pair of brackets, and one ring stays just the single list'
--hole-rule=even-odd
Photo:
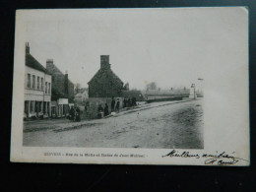
[{"label": "sidewalk strip along the far edge of the road, below the people", "polygon": [[24,132],[33,132],[33,131],[42,131],[42,130],[53,130],[54,132],[70,130],[70,129],[79,129],[81,127],[91,127],[95,126],[96,124],[101,124],[103,119],[111,118],[111,117],[118,117],[121,115],[125,115],[132,112],[137,112],[141,110],[146,110],[150,108],[156,108],[164,105],[175,104],[179,102],[187,102],[194,99],[184,99],[184,100],[173,100],[173,101],[163,101],[163,102],[152,102],[146,103],[142,105],[137,105],[132,108],[125,108],[122,111],[116,114],[110,114],[108,116],[103,117],[102,119],[92,119],[92,120],[82,120],[80,122],[73,122],[68,119],[48,119],[48,120],[40,120],[34,122],[25,122],[24,123]]}]

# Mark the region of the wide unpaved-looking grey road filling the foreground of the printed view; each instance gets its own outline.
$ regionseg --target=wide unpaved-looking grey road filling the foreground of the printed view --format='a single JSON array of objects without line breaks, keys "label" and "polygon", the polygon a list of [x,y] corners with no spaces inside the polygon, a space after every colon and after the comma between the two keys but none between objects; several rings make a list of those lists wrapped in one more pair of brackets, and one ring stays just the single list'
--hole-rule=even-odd
[{"label": "wide unpaved-looking grey road filling the foreground of the printed view", "polygon": [[24,132],[24,146],[203,149],[203,99],[171,103],[75,129]]}]

